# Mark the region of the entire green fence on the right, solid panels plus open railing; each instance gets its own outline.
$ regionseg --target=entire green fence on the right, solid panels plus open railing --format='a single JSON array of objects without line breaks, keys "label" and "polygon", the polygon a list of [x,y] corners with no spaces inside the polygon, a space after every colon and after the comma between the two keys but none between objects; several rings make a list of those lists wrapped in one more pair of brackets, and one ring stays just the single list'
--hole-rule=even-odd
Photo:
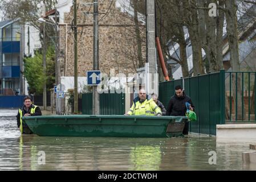
[{"label": "entire green fence on the right, solid panels plus open railing", "polygon": [[160,82],[159,100],[167,107],[170,97],[174,95],[174,87],[183,85],[185,94],[192,99],[196,107],[197,121],[190,122],[190,132],[216,135],[218,124],[256,122],[255,77],[256,72],[221,70],[206,75]]}]

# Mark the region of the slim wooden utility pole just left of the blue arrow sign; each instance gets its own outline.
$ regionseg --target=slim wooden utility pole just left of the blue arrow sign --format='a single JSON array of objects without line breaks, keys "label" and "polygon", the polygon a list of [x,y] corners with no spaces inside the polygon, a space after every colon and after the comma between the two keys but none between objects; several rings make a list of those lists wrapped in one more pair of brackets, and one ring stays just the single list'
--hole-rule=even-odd
[{"label": "slim wooden utility pole just left of the blue arrow sign", "polygon": [[73,2],[74,5],[74,114],[78,114],[78,29],[76,27],[76,0]]}]

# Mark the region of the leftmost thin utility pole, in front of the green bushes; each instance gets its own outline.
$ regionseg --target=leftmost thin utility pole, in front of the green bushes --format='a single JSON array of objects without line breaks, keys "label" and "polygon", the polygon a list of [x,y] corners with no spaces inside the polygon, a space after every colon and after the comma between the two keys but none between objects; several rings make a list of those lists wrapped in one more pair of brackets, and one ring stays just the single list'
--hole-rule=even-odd
[{"label": "leftmost thin utility pole, in front of the green bushes", "polygon": [[43,109],[46,110],[46,23],[43,22]]}]

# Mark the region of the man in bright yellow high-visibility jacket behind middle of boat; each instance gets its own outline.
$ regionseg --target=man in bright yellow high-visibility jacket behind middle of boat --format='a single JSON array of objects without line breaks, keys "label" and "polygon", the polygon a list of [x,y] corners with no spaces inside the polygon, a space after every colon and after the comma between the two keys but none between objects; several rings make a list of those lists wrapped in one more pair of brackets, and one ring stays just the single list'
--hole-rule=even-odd
[{"label": "man in bright yellow high-visibility jacket behind middle of boat", "polygon": [[147,94],[144,89],[139,90],[139,97],[133,100],[132,107],[127,114],[124,115],[162,115],[161,109],[151,99],[147,99]]}]

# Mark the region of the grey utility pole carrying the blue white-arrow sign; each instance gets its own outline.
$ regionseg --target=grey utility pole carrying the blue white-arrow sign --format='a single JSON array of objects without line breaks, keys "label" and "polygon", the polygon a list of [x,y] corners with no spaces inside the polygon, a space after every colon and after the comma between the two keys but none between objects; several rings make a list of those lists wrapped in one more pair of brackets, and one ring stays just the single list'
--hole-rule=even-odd
[{"label": "grey utility pole carrying the blue white-arrow sign", "polygon": [[[94,70],[99,70],[99,4],[94,0]],[[92,114],[100,114],[100,95],[97,86],[92,89]]]}]

